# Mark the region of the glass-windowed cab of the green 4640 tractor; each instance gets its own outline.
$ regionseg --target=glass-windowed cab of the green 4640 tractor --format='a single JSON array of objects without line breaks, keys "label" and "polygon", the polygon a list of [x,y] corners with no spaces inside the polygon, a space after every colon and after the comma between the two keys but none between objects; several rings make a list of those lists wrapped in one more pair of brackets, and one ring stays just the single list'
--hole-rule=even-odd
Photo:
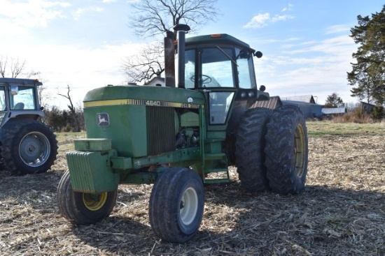
[{"label": "glass-windowed cab of the green 4640 tractor", "polygon": [[255,100],[269,99],[255,82],[253,56],[261,52],[228,34],[186,38],[185,45],[184,86],[207,93],[209,126],[228,123],[230,109],[243,113]]}]

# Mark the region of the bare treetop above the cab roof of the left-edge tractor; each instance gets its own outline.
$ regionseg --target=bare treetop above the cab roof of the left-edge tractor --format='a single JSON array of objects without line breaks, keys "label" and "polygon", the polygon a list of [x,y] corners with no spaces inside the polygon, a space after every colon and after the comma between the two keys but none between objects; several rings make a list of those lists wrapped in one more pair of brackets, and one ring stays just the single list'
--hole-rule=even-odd
[{"label": "bare treetop above the cab roof of the left-edge tractor", "polygon": [[22,75],[25,78],[40,75],[40,72],[34,70],[25,71],[26,61],[19,61],[19,59],[0,56],[0,76],[16,78]]}]

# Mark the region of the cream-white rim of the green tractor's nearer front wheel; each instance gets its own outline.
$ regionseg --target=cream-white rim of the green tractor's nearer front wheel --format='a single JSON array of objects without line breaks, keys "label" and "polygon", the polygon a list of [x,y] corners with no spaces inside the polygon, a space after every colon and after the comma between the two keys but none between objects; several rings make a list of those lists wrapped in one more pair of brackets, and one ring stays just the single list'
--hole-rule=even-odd
[{"label": "cream-white rim of the green tractor's nearer front wheel", "polygon": [[179,216],[184,225],[193,223],[198,211],[198,195],[195,189],[188,188],[182,195],[179,204]]}]

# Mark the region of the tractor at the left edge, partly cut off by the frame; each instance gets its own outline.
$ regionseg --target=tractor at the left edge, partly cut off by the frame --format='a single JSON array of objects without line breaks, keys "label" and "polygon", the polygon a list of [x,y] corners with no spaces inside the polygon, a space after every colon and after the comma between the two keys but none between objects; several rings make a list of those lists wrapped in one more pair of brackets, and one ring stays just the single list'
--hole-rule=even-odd
[{"label": "tractor at the left edge, partly cut off by the frame", "polygon": [[38,80],[0,78],[1,169],[13,175],[50,169],[57,156],[57,140],[41,122]]}]

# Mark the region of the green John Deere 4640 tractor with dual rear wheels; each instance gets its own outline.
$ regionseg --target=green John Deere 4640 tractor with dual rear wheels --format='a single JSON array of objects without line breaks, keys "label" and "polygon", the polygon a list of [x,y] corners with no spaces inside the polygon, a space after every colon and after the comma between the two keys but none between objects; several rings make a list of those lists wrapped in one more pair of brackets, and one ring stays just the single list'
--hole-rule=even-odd
[{"label": "green John Deere 4640 tractor with dual rear wheels", "polygon": [[186,39],[188,29],[176,27],[179,88],[105,86],[86,94],[87,139],[66,153],[69,171],[57,188],[59,210],[72,223],[109,216],[119,184],[154,183],[153,232],[183,243],[200,227],[204,183],[229,182],[230,165],[251,191],[304,189],[302,112],[252,108],[269,100],[255,82],[253,56],[262,54],[227,34]]}]

